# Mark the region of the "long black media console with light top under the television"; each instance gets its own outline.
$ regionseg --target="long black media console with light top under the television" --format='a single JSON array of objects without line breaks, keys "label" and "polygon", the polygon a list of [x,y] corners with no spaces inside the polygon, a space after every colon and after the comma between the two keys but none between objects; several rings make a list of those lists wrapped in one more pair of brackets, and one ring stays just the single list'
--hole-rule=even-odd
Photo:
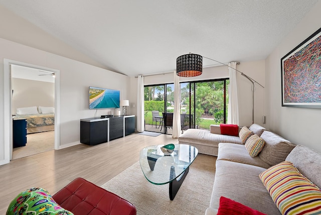
[{"label": "long black media console with light top under the television", "polygon": [[80,120],[80,143],[96,145],[135,132],[135,116],[114,116]]}]

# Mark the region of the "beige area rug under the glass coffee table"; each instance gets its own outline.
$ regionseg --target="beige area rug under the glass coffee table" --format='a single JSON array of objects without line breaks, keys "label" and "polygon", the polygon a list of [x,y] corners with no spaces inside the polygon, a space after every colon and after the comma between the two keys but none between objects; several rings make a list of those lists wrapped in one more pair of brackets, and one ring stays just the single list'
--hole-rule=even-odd
[{"label": "beige area rug under the glass coffee table", "polygon": [[169,184],[149,183],[139,162],[102,187],[134,204],[137,214],[204,214],[210,205],[215,161],[214,156],[199,154],[173,201],[169,197]]}]

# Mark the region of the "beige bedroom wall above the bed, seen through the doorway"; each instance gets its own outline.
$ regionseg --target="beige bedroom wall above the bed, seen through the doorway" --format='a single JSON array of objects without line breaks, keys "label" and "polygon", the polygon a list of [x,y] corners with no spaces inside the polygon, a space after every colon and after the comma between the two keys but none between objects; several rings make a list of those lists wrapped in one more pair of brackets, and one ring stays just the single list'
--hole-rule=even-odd
[{"label": "beige bedroom wall above the bed, seen through the doorway", "polygon": [[12,114],[19,107],[55,106],[55,83],[12,78]]}]

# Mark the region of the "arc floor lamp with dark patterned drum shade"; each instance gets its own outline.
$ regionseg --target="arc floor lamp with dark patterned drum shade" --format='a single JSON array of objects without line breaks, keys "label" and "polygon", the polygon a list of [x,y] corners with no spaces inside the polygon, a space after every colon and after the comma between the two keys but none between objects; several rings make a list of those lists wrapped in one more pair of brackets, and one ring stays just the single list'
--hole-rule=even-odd
[{"label": "arc floor lamp with dark patterned drum shade", "polygon": [[[209,60],[213,60],[217,63],[225,65],[229,68],[232,68],[235,71],[241,73],[241,75],[246,77],[249,81],[251,81],[251,83],[252,83],[252,124],[254,124],[254,91],[255,91],[254,83],[257,83],[258,85],[260,85],[263,88],[264,88],[264,86],[262,86],[259,82],[257,82],[253,78],[249,77],[248,75],[244,74],[243,72],[241,72],[241,71],[239,71],[239,70],[237,70],[237,69],[235,69],[225,63],[222,63],[220,61],[217,61],[217,60],[214,60],[214,59],[211,59],[208,57],[204,57],[204,58],[209,59]],[[202,68],[203,68],[203,57],[201,55],[189,53],[189,54],[179,56],[176,59],[176,74],[178,76],[181,76],[181,77],[199,76],[203,72]],[[263,123],[265,123],[264,121],[265,121],[265,117],[263,116]]]}]

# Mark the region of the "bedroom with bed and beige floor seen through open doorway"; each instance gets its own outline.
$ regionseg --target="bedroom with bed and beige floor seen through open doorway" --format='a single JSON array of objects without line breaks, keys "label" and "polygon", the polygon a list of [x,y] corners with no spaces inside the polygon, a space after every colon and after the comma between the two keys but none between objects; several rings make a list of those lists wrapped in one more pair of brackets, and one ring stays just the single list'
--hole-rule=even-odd
[{"label": "bedroom with bed and beige floor seen through open doorway", "polygon": [[[13,131],[12,160],[55,149],[55,73],[11,65],[12,117],[27,120],[27,142]],[[13,128],[15,130],[15,126]]]}]

